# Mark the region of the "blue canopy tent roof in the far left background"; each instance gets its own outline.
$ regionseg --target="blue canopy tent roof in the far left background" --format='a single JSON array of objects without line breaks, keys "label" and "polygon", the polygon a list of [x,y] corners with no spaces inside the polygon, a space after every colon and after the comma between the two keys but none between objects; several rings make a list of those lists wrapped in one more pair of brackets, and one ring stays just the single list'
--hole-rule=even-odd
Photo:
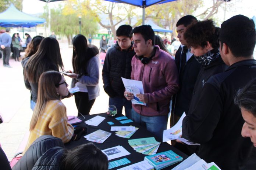
[{"label": "blue canopy tent roof in the far left background", "polygon": [[45,19],[17,10],[13,4],[6,11],[0,13],[1,27],[34,27],[44,22]]}]

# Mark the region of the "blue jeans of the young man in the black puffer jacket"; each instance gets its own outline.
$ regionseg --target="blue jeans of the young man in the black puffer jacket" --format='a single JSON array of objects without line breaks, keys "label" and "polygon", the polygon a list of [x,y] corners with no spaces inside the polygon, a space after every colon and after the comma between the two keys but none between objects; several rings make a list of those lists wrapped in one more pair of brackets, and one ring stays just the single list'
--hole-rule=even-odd
[{"label": "blue jeans of the young man in the black puffer jacket", "polygon": [[132,102],[124,97],[109,97],[109,105],[114,105],[117,108],[117,114],[122,114],[124,107],[125,116],[131,119]]}]

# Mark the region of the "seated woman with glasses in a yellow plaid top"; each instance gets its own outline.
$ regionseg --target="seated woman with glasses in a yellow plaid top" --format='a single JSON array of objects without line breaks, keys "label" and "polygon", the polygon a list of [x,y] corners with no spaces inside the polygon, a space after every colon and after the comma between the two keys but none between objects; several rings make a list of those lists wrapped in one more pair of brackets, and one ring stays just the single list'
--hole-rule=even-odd
[{"label": "seated woman with glasses in a yellow plaid top", "polygon": [[24,153],[42,135],[52,135],[67,143],[74,133],[73,126],[67,122],[66,107],[60,100],[69,93],[64,77],[58,71],[46,71],[40,76],[38,85],[38,101]]}]

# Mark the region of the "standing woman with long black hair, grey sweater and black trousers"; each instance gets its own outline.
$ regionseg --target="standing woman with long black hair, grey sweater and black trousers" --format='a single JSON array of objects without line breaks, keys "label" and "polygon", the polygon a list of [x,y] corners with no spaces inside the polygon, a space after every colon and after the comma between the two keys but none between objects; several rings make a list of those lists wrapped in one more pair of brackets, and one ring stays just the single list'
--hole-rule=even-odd
[{"label": "standing woman with long black hair, grey sweater and black trousers", "polygon": [[72,39],[72,44],[74,73],[67,76],[73,78],[72,87],[77,86],[80,90],[74,93],[78,112],[82,115],[89,115],[100,91],[99,49],[95,46],[88,47],[85,36],[81,34]]}]

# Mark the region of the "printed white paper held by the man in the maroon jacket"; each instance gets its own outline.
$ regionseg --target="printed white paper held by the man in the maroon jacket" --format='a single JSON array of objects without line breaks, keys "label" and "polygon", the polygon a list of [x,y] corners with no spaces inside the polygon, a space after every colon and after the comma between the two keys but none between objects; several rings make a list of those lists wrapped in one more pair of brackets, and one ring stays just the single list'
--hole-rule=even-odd
[{"label": "printed white paper held by the man in the maroon jacket", "polygon": [[132,104],[141,104],[146,106],[146,103],[139,101],[139,98],[136,97],[137,94],[144,94],[142,81],[130,80],[122,77],[122,82],[124,83],[125,90],[133,93],[134,99],[132,99]]}]

